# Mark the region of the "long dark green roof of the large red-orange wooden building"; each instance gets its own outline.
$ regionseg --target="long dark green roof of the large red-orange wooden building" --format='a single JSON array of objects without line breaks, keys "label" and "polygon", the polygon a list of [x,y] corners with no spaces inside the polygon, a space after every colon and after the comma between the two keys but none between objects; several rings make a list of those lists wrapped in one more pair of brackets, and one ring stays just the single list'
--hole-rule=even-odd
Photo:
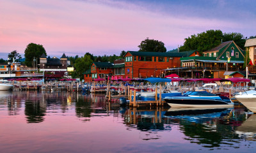
[{"label": "long dark green roof of the large red-orange wooden building", "polygon": [[[156,57],[186,57],[186,54],[179,52],[138,52],[138,51],[128,51],[132,55],[136,56],[156,56]],[[126,52],[126,54],[128,53]],[[126,55],[125,54],[125,55]]]}]

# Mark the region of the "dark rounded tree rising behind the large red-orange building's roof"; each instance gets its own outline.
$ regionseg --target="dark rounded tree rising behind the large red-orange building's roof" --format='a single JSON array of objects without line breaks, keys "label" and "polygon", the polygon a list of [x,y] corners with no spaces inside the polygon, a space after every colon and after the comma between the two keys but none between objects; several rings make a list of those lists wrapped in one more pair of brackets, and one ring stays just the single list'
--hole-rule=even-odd
[{"label": "dark rounded tree rising behind the large red-orange building's roof", "polygon": [[164,43],[158,40],[146,40],[141,41],[139,52],[166,52],[166,48],[164,47]]}]

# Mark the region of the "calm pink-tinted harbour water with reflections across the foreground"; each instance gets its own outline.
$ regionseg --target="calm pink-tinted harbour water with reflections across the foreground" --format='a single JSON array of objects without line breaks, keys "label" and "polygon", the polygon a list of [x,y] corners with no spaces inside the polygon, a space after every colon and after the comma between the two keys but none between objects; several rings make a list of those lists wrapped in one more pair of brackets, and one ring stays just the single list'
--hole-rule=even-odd
[{"label": "calm pink-tinted harbour water with reflections across the foreground", "polygon": [[256,115],[246,111],[129,110],[104,95],[0,91],[0,152],[255,152]]}]

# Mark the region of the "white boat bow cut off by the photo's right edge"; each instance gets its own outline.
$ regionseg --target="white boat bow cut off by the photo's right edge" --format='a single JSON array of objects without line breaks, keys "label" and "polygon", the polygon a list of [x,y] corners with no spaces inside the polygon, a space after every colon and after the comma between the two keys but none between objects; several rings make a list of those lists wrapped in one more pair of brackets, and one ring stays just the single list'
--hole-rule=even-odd
[{"label": "white boat bow cut off by the photo's right edge", "polygon": [[253,113],[256,113],[256,91],[240,92],[235,98]]}]

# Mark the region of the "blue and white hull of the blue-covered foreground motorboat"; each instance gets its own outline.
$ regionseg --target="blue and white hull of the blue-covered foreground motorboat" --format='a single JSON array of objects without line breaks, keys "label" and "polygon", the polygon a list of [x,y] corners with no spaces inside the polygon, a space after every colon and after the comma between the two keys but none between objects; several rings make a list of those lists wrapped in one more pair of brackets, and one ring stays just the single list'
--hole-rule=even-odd
[{"label": "blue and white hull of the blue-covered foreground motorboat", "polygon": [[212,107],[232,108],[234,103],[227,103],[219,99],[186,99],[186,98],[164,98],[171,107]]}]

